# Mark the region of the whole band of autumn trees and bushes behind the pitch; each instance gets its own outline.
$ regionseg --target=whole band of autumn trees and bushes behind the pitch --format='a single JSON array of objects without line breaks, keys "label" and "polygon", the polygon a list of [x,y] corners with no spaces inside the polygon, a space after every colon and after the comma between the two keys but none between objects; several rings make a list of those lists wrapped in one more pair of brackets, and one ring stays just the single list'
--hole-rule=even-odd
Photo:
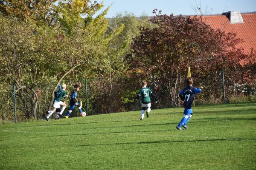
[{"label": "whole band of autumn trees and bushes behind the pitch", "polygon": [[141,80],[152,87],[153,74],[161,86],[156,108],[169,107],[169,99],[180,106],[188,66],[194,86],[204,86],[197,101],[222,100],[222,70],[227,99],[255,91],[255,50],[245,54],[235,33],[213,30],[200,17],[155,9],[149,20],[130,13],[108,20],[110,6],[94,17],[103,2],[56,2],[0,0],[0,119],[14,119],[13,84],[22,119],[44,118],[61,83],[67,94],[81,85],[85,102],[85,78],[89,115],[141,109],[134,97]]}]

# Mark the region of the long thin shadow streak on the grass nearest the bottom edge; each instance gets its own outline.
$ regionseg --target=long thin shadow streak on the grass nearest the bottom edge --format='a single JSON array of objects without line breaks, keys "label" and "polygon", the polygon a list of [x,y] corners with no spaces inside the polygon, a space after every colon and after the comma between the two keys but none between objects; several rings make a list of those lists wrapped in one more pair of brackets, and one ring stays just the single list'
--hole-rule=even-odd
[{"label": "long thin shadow streak on the grass nearest the bottom edge", "polygon": [[131,142],[131,143],[112,143],[112,144],[84,144],[76,147],[85,146],[105,146],[105,145],[122,145],[122,144],[160,144],[160,143],[189,143],[189,142],[212,142],[212,141],[256,141],[256,139],[204,139],[192,141],[152,141],[152,142]]}]

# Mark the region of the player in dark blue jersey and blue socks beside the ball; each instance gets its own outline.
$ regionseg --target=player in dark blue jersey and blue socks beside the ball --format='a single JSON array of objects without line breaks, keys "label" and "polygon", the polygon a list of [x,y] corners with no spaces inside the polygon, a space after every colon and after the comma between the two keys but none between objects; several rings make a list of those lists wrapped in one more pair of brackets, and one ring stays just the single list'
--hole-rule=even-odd
[{"label": "player in dark blue jersey and blue socks beside the ball", "polygon": [[79,108],[79,112],[82,113],[82,101],[79,102],[76,97],[77,97],[77,92],[79,91],[80,86],[79,85],[75,85],[74,86],[74,90],[72,92],[72,95],[70,97],[70,110],[65,114],[64,118],[68,118],[68,116],[70,115],[70,113],[74,110],[75,106],[78,106]]}]

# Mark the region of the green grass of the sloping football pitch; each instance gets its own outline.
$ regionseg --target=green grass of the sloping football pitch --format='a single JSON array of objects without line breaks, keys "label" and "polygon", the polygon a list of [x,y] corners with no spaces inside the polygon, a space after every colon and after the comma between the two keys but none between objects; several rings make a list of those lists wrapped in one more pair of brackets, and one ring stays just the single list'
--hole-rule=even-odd
[{"label": "green grass of the sloping football pitch", "polygon": [[0,170],[256,169],[256,103],[0,125]]}]

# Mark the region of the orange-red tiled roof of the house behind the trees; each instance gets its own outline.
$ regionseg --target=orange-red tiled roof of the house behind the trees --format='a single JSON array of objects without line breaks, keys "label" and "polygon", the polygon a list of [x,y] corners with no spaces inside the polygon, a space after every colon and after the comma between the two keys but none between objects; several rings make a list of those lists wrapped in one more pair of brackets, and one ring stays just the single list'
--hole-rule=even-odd
[{"label": "orange-red tiled roof of the house behind the trees", "polygon": [[244,23],[231,24],[225,15],[203,17],[205,23],[213,29],[220,29],[225,32],[236,32],[237,37],[244,40],[239,47],[243,47],[246,53],[250,48],[256,50],[256,14],[242,14]]}]

